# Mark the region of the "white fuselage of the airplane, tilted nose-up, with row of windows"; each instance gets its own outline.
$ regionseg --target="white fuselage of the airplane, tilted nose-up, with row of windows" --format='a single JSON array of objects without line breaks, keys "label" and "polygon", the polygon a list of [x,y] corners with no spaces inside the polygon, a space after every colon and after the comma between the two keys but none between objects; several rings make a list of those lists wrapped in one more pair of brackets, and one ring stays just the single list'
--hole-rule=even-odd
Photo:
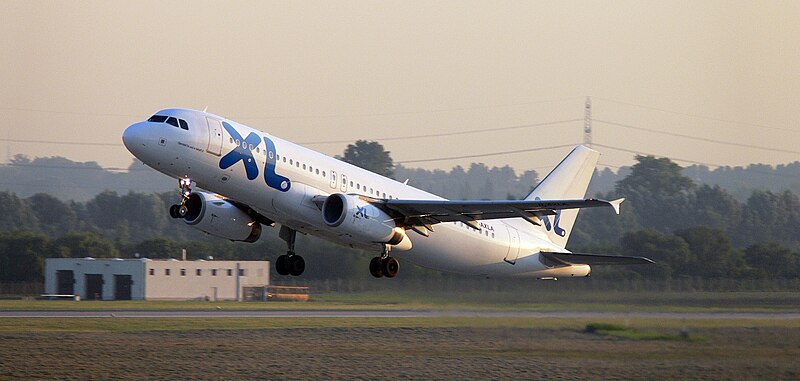
[{"label": "white fuselage of the airplane, tilted nose-up, with row of windows", "polygon": [[[375,199],[442,199],[216,115],[187,109],[158,114],[183,119],[188,129],[156,122],[130,126],[123,139],[142,162],[168,176],[190,178],[198,186],[247,204],[289,228],[340,244],[376,251],[382,247],[354,241],[325,224],[319,206],[312,201],[315,196],[345,193]],[[239,136],[229,133],[222,122]],[[252,153],[258,168],[258,176],[252,180],[245,168],[249,158],[222,168],[221,159],[237,144],[244,144]],[[274,168],[270,170],[268,164]],[[281,189],[287,183],[270,186],[265,180],[270,172],[289,180],[290,188]],[[484,220],[480,226],[481,230],[476,230],[460,222],[440,223],[433,226],[435,231],[429,237],[409,230],[413,248],[392,251],[392,255],[433,269],[482,276],[585,276],[590,271],[586,265],[545,266],[540,251],[565,249],[552,243],[544,230],[522,219]]]}]

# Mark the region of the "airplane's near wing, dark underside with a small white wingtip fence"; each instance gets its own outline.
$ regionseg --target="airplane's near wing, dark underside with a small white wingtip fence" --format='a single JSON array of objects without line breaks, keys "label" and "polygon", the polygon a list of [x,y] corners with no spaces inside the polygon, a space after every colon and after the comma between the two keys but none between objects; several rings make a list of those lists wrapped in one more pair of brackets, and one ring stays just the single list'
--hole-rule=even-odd
[{"label": "airplane's near wing, dark underside with a small white wingtip fence", "polygon": [[595,208],[610,206],[619,214],[619,204],[625,200],[620,198],[614,201],[588,199],[571,200],[380,200],[374,204],[388,209],[406,226],[430,226],[440,222],[460,221],[472,228],[480,229],[477,220],[492,220],[499,218],[523,218],[526,221],[540,225],[539,218],[545,215],[556,214],[559,209]]}]

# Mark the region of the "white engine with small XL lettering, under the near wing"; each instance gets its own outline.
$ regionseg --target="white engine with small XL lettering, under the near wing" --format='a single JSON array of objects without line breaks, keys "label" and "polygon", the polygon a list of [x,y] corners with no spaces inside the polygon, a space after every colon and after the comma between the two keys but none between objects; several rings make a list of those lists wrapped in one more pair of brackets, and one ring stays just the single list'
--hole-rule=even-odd
[{"label": "white engine with small XL lettering, under the near wing", "polygon": [[322,219],[359,241],[385,243],[395,250],[410,250],[411,240],[403,228],[384,211],[360,198],[334,193],[322,204]]}]

